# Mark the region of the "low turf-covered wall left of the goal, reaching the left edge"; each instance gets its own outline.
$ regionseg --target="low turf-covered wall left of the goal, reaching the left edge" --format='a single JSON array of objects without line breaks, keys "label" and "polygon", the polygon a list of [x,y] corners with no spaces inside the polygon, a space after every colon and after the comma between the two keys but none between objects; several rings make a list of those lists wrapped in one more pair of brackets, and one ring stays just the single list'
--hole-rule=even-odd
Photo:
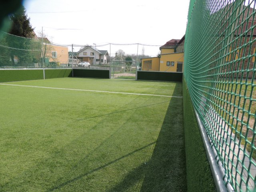
[{"label": "low turf-covered wall left of the goal, reaching the left edge", "polygon": [[[72,77],[72,69],[45,69],[45,78]],[[74,69],[74,77],[109,78],[109,70]],[[44,79],[43,69],[0,70],[0,82]]]}]

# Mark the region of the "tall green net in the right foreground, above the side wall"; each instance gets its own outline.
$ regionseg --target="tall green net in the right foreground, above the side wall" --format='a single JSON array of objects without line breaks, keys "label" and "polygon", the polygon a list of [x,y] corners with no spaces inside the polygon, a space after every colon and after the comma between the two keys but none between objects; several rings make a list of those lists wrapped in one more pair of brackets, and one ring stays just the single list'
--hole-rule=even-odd
[{"label": "tall green net in the right foreground, above the side wall", "polygon": [[184,78],[223,180],[256,183],[256,1],[191,0]]}]

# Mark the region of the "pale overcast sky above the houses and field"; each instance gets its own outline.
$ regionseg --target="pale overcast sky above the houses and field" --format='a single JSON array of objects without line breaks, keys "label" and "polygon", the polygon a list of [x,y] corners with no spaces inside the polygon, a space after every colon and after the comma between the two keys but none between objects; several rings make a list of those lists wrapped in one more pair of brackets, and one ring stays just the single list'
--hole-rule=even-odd
[{"label": "pale overcast sky above the houses and field", "polygon": [[[163,45],[185,34],[189,0],[26,0],[30,23],[57,44],[92,45],[114,54],[122,49],[137,54],[134,46]],[[78,51],[80,46],[74,47]],[[69,48],[71,51],[71,48]],[[157,55],[159,46],[144,46],[145,54]],[[141,54],[142,46],[138,48]]]}]

